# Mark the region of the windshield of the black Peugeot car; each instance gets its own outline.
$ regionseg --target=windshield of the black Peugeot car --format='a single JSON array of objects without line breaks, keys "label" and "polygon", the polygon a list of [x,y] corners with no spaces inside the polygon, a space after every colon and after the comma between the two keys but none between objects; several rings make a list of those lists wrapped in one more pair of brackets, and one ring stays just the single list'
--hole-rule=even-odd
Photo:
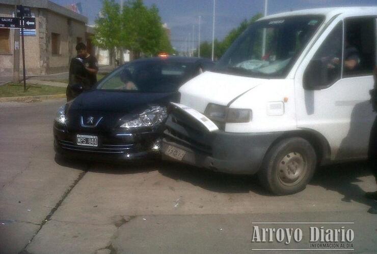
[{"label": "windshield of the black Peugeot car", "polygon": [[136,61],[100,81],[97,89],[128,92],[174,92],[190,78],[193,63]]}]

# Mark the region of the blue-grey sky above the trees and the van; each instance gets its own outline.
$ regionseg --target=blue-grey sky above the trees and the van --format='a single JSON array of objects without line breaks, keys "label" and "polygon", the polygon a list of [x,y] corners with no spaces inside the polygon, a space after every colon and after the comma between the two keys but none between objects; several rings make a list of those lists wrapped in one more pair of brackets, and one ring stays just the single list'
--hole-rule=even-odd
[{"label": "blue-grey sky above the trees and the van", "polygon": [[[119,3],[120,0],[115,1]],[[52,2],[62,6],[81,3],[83,14],[89,18],[89,24],[94,24],[102,6],[101,0],[52,0]],[[211,41],[213,0],[144,0],[144,3],[147,6],[152,4],[157,6],[161,19],[171,29],[172,45],[178,51],[185,51],[190,45],[197,46],[199,16],[202,17],[201,41]],[[267,14],[339,6],[377,6],[377,0],[268,0]],[[216,0],[215,37],[222,40],[244,19],[250,19],[263,10],[264,0]]]}]

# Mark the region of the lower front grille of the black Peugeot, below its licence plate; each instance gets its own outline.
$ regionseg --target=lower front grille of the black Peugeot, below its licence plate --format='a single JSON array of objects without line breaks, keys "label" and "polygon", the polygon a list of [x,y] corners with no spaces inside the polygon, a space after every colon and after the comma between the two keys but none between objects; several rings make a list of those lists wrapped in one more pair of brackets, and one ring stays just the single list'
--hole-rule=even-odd
[{"label": "lower front grille of the black Peugeot, below its licence plate", "polygon": [[92,153],[121,154],[126,153],[134,147],[134,144],[100,144],[98,147],[80,146],[72,141],[58,140],[63,149],[71,151],[82,151]]}]

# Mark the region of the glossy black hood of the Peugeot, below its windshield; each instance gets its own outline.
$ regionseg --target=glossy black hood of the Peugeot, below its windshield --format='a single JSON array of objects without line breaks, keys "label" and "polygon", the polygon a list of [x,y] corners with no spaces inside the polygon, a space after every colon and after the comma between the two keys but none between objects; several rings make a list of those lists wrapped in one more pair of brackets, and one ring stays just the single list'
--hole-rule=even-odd
[{"label": "glossy black hood of the Peugeot, below its windshield", "polygon": [[68,103],[69,110],[133,113],[150,105],[167,105],[177,100],[178,93],[142,93],[91,90]]}]

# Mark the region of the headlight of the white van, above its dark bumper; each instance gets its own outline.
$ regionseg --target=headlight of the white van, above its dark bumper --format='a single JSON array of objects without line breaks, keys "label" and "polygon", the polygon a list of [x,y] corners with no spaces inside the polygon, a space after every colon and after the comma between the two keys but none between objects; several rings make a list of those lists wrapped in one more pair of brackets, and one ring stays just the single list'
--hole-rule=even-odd
[{"label": "headlight of the white van, above its dark bumper", "polygon": [[208,104],[204,115],[218,122],[250,122],[252,119],[251,109],[233,109],[213,103]]}]

